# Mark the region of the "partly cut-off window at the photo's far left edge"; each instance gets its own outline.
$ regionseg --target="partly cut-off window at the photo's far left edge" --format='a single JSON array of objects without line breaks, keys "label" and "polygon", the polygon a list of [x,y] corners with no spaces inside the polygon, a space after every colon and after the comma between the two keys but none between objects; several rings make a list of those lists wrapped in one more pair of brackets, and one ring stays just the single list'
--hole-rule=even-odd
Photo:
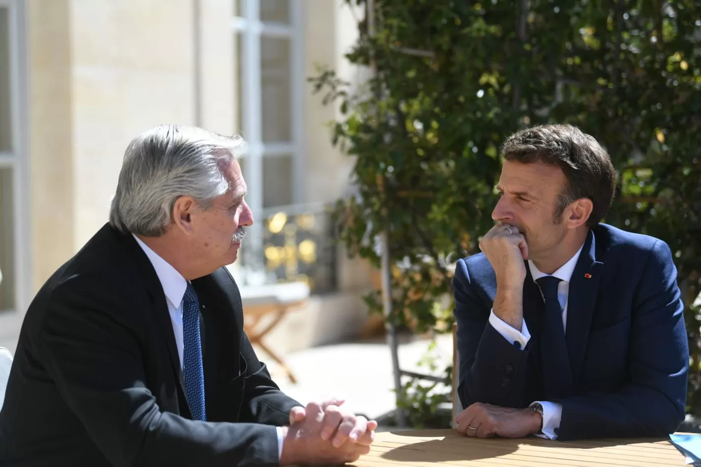
[{"label": "partly cut-off window at the photo's far left edge", "polygon": [[0,0],[0,312],[21,309],[27,290],[27,214],[18,123],[20,79],[18,5]]}]

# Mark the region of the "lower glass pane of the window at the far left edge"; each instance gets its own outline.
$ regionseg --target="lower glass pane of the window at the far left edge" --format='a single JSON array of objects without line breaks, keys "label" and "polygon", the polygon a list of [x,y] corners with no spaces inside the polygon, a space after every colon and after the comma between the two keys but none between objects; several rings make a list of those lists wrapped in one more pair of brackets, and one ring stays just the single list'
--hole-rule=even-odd
[{"label": "lower glass pane of the window at the far left edge", "polygon": [[0,169],[0,311],[15,309],[15,237],[12,169]]}]

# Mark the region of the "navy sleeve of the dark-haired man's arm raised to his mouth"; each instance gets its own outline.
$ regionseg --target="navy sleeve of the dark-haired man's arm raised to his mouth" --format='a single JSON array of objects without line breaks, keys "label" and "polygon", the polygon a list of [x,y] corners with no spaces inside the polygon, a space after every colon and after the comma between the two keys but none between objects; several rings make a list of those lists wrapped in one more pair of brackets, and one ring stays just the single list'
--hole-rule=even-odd
[{"label": "navy sleeve of the dark-haired man's arm raised to his mouth", "polygon": [[453,288],[463,407],[476,402],[525,407],[531,402],[524,396],[527,347],[510,344],[489,324],[491,304],[477,296],[465,260],[456,264]]}]

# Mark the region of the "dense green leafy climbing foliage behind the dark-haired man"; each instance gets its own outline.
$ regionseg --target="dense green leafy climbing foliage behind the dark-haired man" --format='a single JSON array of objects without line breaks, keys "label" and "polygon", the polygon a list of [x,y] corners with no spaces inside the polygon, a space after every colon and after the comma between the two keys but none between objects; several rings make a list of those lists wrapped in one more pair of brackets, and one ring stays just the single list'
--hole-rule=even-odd
[{"label": "dense green leafy climbing foliage behind the dark-haired man", "polygon": [[361,23],[348,59],[374,63],[376,76],[354,92],[329,71],[311,81],[340,105],[333,141],[355,158],[357,196],[338,204],[343,243],[379,266],[373,239],[389,232],[391,319],[448,329],[450,265],[479,251],[493,225],[503,139],[572,123],[606,146],[621,174],[605,221],[672,248],[687,306],[690,410],[701,412],[701,1],[374,6],[376,34]]}]

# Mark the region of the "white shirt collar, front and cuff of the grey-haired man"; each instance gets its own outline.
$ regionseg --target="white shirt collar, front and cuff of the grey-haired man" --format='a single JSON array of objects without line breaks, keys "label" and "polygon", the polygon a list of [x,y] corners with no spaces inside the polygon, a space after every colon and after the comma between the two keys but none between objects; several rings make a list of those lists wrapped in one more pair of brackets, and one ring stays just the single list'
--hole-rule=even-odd
[{"label": "white shirt collar, front and cuff of the grey-haired man", "polygon": [[[165,302],[168,305],[168,314],[170,314],[170,323],[172,323],[173,334],[175,335],[175,347],[177,347],[177,354],[180,358],[180,369],[182,370],[182,298],[185,295],[187,281],[168,261],[158,256],[139,237],[132,235],[139,246],[141,246],[141,249],[144,250],[146,256],[148,256],[151,265],[156,270],[158,280],[161,281],[163,293],[165,293]],[[278,459],[280,459],[283,456],[283,429],[280,426],[276,426],[275,429],[278,431]]]}]

